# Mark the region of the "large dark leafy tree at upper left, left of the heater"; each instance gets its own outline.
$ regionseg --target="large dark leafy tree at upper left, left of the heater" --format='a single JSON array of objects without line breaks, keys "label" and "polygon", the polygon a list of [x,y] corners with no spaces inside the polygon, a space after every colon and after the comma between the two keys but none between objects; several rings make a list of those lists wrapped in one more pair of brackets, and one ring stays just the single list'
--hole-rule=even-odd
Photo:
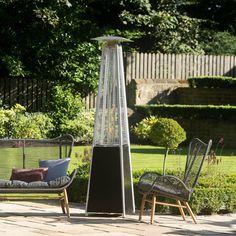
[{"label": "large dark leafy tree at upper left, left of the heater", "polygon": [[97,30],[85,10],[76,0],[1,1],[0,76],[70,84],[82,96],[94,91],[99,52],[87,41]]}]

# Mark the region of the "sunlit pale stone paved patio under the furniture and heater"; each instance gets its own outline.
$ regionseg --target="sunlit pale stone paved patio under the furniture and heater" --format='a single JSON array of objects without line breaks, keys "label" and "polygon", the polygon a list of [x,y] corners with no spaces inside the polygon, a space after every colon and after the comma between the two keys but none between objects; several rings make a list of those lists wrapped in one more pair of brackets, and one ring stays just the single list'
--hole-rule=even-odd
[{"label": "sunlit pale stone paved patio under the furniture and heater", "polygon": [[236,214],[198,216],[199,224],[180,216],[157,215],[155,224],[148,224],[149,216],[138,222],[138,216],[95,217],[84,215],[84,206],[71,204],[71,219],[61,214],[51,202],[0,202],[1,236],[80,235],[80,236],[136,236],[136,235],[236,235]]}]

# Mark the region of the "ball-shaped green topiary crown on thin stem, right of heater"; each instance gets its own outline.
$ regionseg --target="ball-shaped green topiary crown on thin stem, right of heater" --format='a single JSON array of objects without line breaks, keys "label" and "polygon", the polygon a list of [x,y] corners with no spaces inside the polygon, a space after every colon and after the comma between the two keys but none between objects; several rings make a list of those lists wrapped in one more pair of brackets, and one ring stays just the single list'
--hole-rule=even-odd
[{"label": "ball-shaped green topiary crown on thin stem, right of heater", "polygon": [[176,148],[185,139],[184,129],[173,119],[159,118],[150,132],[153,144],[166,148]]}]

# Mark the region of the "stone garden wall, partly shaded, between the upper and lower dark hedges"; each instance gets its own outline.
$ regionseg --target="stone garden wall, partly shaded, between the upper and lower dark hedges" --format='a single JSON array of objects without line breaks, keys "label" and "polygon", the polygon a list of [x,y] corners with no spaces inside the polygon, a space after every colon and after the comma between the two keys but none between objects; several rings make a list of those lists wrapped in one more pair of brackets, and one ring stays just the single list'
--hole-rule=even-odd
[{"label": "stone garden wall, partly shaded, between the upper and lower dark hedges", "polygon": [[127,86],[129,107],[145,104],[236,105],[236,89],[189,88],[186,81],[132,80]]}]

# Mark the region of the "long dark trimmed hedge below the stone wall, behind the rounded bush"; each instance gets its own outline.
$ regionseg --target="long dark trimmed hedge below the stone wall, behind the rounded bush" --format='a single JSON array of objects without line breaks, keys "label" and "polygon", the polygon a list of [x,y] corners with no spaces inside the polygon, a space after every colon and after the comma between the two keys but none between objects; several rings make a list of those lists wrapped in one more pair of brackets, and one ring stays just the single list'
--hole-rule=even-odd
[{"label": "long dark trimmed hedge below the stone wall, behind the rounded bush", "polygon": [[140,120],[148,116],[172,119],[235,120],[236,106],[214,105],[144,105],[136,106]]}]

